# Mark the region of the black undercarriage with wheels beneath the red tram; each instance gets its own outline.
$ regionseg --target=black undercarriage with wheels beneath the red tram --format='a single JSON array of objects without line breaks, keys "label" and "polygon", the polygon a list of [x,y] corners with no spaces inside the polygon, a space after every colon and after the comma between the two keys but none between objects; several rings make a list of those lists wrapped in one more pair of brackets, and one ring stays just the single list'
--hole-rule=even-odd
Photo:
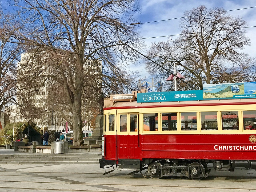
[{"label": "black undercarriage with wheels beneath the red tram", "polygon": [[[105,159],[99,160],[101,167],[110,165],[117,166],[115,161],[106,161]],[[230,172],[234,171],[234,168],[247,168],[256,170],[256,161],[238,161],[238,160],[185,160],[185,159],[119,159],[118,170],[134,170],[138,173],[144,169],[147,169],[145,174],[141,174],[146,177],[150,176],[153,179],[160,179],[163,176],[177,176],[188,177],[193,180],[200,180],[208,177],[211,169],[208,169],[207,164],[213,163],[215,171]],[[112,171],[108,171],[110,173]]]}]

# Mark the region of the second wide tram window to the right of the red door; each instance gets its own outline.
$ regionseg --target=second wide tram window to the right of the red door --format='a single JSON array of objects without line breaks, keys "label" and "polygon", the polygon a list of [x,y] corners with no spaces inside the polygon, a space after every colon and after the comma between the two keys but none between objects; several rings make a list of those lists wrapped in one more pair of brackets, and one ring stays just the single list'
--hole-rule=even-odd
[{"label": "second wide tram window to the right of the red door", "polygon": [[162,130],[177,131],[177,113],[162,113]]}]

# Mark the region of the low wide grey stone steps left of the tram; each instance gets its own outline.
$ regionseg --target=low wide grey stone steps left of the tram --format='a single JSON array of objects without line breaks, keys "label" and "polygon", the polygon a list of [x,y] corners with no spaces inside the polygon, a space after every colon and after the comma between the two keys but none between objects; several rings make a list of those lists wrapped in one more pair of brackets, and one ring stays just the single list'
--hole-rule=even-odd
[{"label": "low wide grey stone steps left of the tram", "polygon": [[18,153],[0,155],[1,164],[99,164],[101,152],[90,153]]}]

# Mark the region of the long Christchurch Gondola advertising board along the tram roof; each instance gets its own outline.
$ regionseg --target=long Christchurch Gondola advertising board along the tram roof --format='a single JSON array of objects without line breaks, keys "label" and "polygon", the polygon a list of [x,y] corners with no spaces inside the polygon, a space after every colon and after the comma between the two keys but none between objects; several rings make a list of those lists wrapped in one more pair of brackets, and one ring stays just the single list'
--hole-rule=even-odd
[{"label": "long Christchurch Gondola advertising board along the tram roof", "polygon": [[205,84],[203,90],[138,93],[137,103],[256,98],[256,82]]}]

